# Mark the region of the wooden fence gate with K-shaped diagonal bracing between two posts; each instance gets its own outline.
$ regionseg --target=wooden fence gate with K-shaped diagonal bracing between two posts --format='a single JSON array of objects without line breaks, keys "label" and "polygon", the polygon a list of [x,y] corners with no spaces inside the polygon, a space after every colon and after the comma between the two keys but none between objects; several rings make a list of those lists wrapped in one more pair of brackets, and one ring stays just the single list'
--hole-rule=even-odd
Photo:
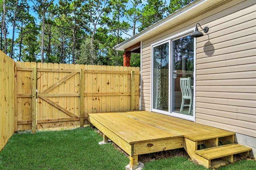
[{"label": "wooden fence gate with K-shaped diagonal bracing between two posts", "polygon": [[37,128],[79,125],[80,65],[38,63]]}]

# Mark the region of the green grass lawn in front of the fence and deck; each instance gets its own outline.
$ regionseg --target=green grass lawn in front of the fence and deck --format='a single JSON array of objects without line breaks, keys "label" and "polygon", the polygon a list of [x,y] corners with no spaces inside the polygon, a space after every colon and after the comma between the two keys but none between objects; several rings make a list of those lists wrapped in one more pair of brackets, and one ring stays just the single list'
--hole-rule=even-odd
[{"label": "green grass lawn in front of the fence and deck", "polygon": [[[0,152],[1,170],[124,170],[129,159],[89,127],[15,133]],[[140,161],[140,158],[139,158]],[[256,162],[238,161],[218,170],[255,170]],[[143,170],[207,170],[185,157],[145,163]]]}]

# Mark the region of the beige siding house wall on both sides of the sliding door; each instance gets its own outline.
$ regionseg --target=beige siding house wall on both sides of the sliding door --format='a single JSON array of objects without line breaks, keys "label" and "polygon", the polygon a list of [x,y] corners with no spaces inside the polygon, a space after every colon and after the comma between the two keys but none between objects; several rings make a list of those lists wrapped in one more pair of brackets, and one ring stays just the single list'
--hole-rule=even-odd
[{"label": "beige siding house wall on both sides of the sliding door", "polygon": [[[225,1],[143,40],[142,110],[150,111],[151,44],[194,28],[196,23],[203,28],[208,26],[209,36],[196,39],[195,122],[236,132],[244,139],[255,139],[256,3],[253,0]],[[243,141],[244,145],[253,145],[249,144],[251,140]],[[250,146],[254,147],[254,155],[255,145]]]}]

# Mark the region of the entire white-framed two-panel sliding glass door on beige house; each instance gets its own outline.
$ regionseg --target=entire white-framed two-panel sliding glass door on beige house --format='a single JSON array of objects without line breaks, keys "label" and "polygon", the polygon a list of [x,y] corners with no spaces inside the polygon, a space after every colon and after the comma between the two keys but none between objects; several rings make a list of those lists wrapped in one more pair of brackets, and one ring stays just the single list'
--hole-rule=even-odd
[{"label": "entire white-framed two-panel sliding glass door on beige house", "polygon": [[[185,119],[193,116],[194,38],[152,45],[152,111]],[[191,118],[192,119],[192,118]]]}]

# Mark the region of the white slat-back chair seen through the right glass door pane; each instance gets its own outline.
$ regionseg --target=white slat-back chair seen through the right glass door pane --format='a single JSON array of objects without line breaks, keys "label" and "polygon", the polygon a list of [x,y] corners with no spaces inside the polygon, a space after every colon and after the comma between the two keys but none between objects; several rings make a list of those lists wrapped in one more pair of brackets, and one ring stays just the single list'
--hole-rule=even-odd
[{"label": "white slat-back chair seen through the right glass door pane", "polygon": [[[180,88],[182,93],[182,103],[180,106],[180,112],[183,111],[184,106],[189,106],[189,114],[193,108],[193,91],[191,87],[191,77],[189,78],[180,78]],[[189,99],[189,105],[184,105],[185,100]]]}]

